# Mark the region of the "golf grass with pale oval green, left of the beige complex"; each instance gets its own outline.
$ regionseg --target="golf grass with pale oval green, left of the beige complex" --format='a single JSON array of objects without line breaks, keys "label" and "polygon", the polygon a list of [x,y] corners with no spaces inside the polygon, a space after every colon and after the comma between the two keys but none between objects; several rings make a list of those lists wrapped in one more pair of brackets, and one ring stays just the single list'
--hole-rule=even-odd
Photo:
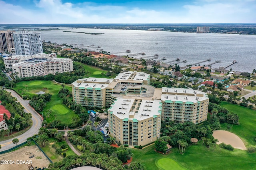
[{"label": "golf grass with pale oval green, left of the beige complex", "polygon": [[[66,85],[66,88],[72,91],[70,85]],[[44,88],[47,88],[44,90]],[[56,114],[56,119],[60,120],[62,123],[69,124],[71,123],[71,118],[75,115],[74,111],[70,110],[64,104],[62,104],[62,99],[59,98],[58,92],[62,88],[60,84],[57,84],[53,81],[44,81],[44,80],[35,80],[35,81],[26,81],[19,82],[17,87],[14,88],[17,92],[21,94],[28,94],[29,96],[36,95],[36,92],[46,92],[52,94],[51,101],[46,104],[44,111],[47,109],[52,110],[52,115],[46,117],[48,122],[51,122],[55,119],[54,115]],[[26,91],[25,91],[26,90]],[[22,96],[22,95],[21,95]],[[42,111],[42,113],[44,112]]]}]

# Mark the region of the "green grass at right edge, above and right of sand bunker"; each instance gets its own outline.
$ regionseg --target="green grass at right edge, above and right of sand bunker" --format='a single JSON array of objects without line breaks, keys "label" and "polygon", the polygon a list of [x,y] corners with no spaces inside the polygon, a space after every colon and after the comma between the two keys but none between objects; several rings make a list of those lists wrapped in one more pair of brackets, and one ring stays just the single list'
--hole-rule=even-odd
[{"label": "green grass at right edge, above and right of sand bunker", "polygon": [[[244,142],[246,147],[250,145],[256,145],[254,137],[256,136],[256,110],[252,110],[243,106],[230,104],[228,102],[222,102],[220,106],[227,108],[229,111],[238,114],[240,125],[234,125],[230,132],[238,135]],[[222,125],[225,129],[225,124]]]}]

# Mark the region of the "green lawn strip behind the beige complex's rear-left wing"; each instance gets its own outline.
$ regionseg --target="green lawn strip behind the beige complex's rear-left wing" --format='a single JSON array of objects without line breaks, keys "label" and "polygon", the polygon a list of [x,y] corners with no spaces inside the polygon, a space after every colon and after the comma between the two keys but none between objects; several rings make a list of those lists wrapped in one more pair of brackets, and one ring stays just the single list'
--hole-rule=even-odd
[{"label": "green lawn strip behind the beige complex's rear-left wing", "polygon": [[[76,64],[81,64],[80,62],[74,62]],[[82,64],[84,66],[84,69],[86,71],[89,71],[88,77],[95,77],[95,78],[109,78],[108,76],[105,76],[105,74],[108,72],[106,70],[102,70],[96,66],[89,66],[87,64]],[[102,75],[104,73],[104,75]]]}]

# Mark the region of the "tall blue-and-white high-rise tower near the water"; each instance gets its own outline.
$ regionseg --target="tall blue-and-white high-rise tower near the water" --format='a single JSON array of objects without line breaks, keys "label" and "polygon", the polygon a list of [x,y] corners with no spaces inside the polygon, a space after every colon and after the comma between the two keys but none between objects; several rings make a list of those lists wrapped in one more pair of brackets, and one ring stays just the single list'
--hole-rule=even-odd
[{"label": "tall blue-and-white high-rise tower near the water", "polygon": [[43,53],[41,33],[19,31],[13,33],[16,55],[35,55]]}]

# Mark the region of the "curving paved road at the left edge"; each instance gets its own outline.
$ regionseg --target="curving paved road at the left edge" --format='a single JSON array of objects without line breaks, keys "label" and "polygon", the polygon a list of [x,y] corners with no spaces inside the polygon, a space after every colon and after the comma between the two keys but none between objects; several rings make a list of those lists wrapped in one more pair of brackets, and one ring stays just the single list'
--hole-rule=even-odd
[{"label": "curving paved road at the left edge", "polygon": [[[28,102],[29,102],[28,100],[23,100],[13,90],[6,89],[6,91],[11,92],[12,96],[17,98],[18,102],[20,102],[20,104],[25,108],[24,111],[26,113],[31,113],[32,114],[32,122],[33,122],[32,127],[28,131],[23,133],[22,135],[15,137],[15,138],[19,139],[18,144],[20,144],[20,143],[25,142],[28,137],[32,137],[34,134],[38,133],[38,129],[41,127],[42,118],[40,117],[40,115],[36,111],[34,111],[34,109],[32,109],[32,107],[30,107],[28,105]],[[15,145],[12,144],[12,140],[13,139],[9,139],[9,140],[6,140],[6,141],[1,141],[0,145],[2,146],[2,149],[0,149],[0,150],[3,151],[3,150],[7,150],[7,149],[10,149],[10,148],[14,147]]]}]

